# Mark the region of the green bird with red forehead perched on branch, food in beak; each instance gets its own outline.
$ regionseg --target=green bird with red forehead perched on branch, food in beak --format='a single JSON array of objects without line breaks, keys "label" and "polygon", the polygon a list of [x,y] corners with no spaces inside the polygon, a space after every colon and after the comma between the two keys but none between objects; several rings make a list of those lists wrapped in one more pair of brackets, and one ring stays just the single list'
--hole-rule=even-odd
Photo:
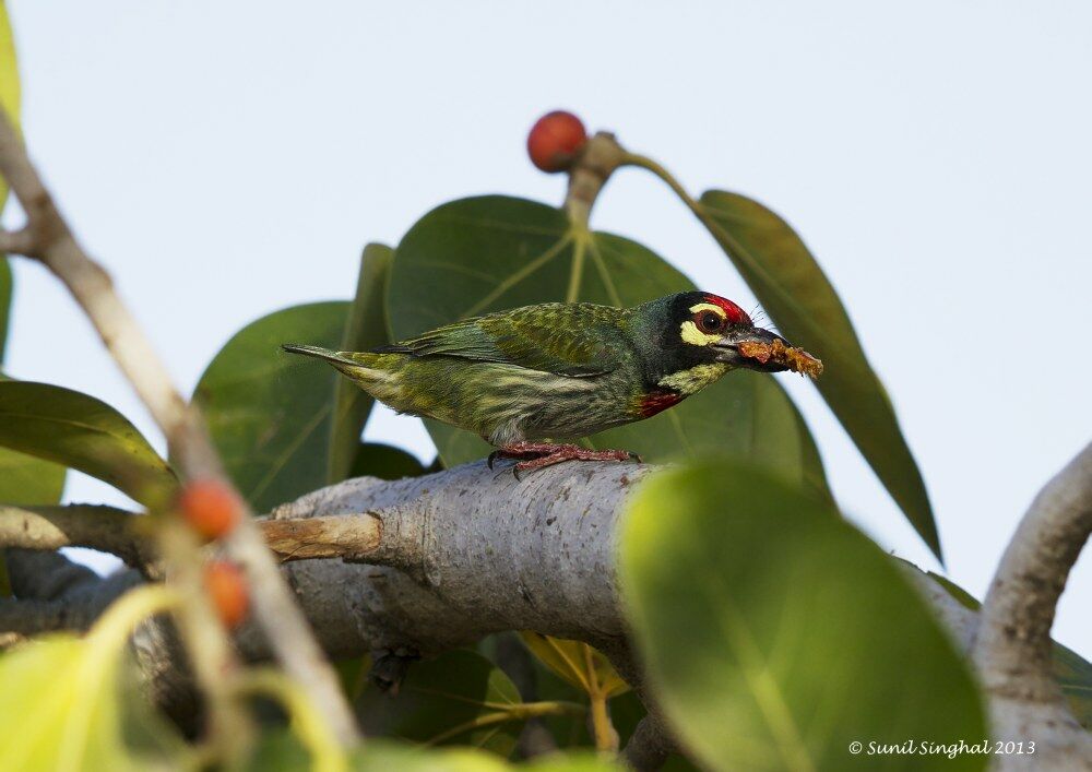
[{"label": "green bird with red forehead perched on branch, food in beak", "polygon": [[[637,459],[558,440],[651,418],[733,369],[799,369],[769,352],[800,352],[732,300],[698,290],[631,308],[524,306],[368,352],[282,348],[325,360],[399,413],[479,435],[496,448],[489,465],[513,460],[517,476],[570,460]],[[745,354],[756,348],[764,354]]]}]

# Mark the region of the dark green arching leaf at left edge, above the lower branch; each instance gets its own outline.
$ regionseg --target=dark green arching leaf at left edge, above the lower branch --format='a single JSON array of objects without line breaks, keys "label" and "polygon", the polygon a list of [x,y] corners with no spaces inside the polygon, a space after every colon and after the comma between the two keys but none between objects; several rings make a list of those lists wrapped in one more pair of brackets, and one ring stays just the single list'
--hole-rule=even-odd
[{"label": "dark green arching leaf at left edge, above the lower branch", "polygon": [[142,503],[174,489],[170,467],[100,400],[48,383],[0,381],[0,446],[71,466]]}]

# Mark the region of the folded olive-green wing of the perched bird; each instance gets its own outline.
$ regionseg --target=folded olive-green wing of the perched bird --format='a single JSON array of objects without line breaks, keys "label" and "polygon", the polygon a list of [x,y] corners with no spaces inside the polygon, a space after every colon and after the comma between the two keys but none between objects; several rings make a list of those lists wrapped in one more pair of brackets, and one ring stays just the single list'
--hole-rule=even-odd
[{"label": "folded olive-green wing of the perched bird", "polygon": [[449,356],[582,378],[618,367],[627,313],[594,304],[551,302],[463,321],[376,349]]}]

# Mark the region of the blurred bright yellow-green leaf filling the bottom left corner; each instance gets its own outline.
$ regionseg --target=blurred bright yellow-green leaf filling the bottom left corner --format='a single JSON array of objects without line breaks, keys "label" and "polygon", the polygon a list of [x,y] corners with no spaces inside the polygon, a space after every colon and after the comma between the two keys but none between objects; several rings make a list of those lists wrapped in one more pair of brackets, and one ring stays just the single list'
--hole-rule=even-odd
[{"label": "blurred bright yellow-green leaf filling the bottom left corner", "polygon": [[133,627],[170,597],[162,586],[133,590],[86,637],[48,636],[0,656],[0,769],[192,767],[165,722],[146,705],[133,710],[120,667]]}]

